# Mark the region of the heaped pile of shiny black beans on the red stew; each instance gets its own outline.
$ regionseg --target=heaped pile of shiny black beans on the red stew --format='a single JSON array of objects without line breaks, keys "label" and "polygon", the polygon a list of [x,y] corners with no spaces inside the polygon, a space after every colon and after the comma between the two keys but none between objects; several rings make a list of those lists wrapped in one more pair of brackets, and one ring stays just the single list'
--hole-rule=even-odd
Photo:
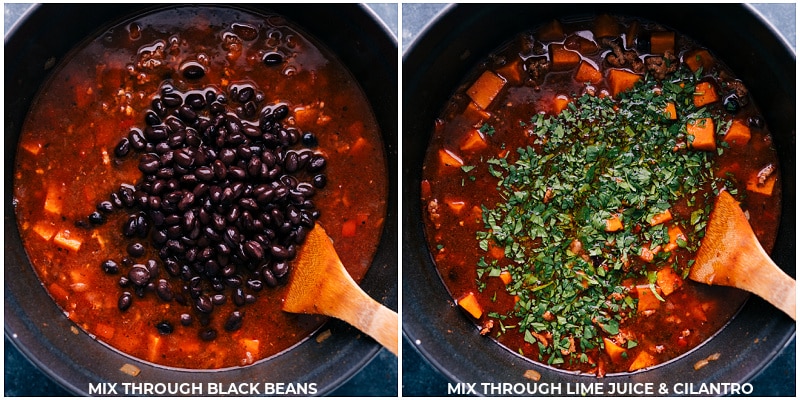
[{"label": "heaped pile of shiny black beans on the red stew", "polygon": [[[286,104],[263,103],[263,93],[249,84],[231,85],[226,93],[213,87],[180,92],[164,84],[144,129],[117,144],[116,161],[138,155],[142,177],[122,184],[88,221],[103,224],[116,210],[128,213],[122,225],[128,254],[101,265],[126,289],[121,311],[155,293],[190,305],[193,312],[178,322],[189,326],[199,319],[200,337],[212,340],[215,306],[237,306],[224,324],[235,331],[242,325],[240,307],[285,282],[297,247],[319,218],[311,199],[325,187],[326,159],[314,151],[312,133],[284,124]],[[173,324],[156,328],[169,334]]]}]

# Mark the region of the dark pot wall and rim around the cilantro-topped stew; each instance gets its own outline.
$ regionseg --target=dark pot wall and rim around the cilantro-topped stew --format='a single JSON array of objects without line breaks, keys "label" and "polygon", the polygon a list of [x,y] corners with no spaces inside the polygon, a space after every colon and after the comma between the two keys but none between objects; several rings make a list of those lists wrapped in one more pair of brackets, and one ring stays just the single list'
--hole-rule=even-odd
[{"label": "dark pot wall and rim around the cilantro-topped stew", "polygon": [[[600,13],[639,16],[698,40],[727,63],[751,90],[774,134],[784,183],[783,214],[772,258],[791,276],[795,275],[795,55],[748,7],[451,6],[426,27],[403,60],[403,331],[408,343],[450,383],[477,383],[476,394],[482,393],[481,382],[532,383],[523,377],[528,369],[541,372],[542,383],[651,382],[656,388],[665,384],[672,395],[680,395],[672,389],[684,382],[745,383],[768,365],[795,335],[793,320],[751,296],[739,314],[698,349],[650,370],[598,380],[521,358],[492,339],[478,335],[475,324],[453,305],[426,247],[420,203],[422,163],[434,120],[467,73],[517,33],[554,18]],[[715,352],[721,354],[717,362],[697,371],[693,369],[695,362]],[[794,379],[794,373],[788,378]],[[438,388],[436,393],[446,390]]]}]

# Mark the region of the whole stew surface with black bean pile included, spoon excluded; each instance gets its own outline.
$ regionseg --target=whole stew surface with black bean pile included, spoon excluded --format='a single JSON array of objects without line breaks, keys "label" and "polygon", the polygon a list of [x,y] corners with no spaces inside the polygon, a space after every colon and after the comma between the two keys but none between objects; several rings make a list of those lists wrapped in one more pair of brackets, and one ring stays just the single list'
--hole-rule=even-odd
[{"label": "whole stew surface with black bean pile included, spoon excluded", "polygon": [[27,116],[14,204],[31,263],[80,328],[161,365],[251,364],[323,318],[281,311],[304,230],[357,281],[385,215],[357,82],[282,16],[176,7],[76,48]]}]

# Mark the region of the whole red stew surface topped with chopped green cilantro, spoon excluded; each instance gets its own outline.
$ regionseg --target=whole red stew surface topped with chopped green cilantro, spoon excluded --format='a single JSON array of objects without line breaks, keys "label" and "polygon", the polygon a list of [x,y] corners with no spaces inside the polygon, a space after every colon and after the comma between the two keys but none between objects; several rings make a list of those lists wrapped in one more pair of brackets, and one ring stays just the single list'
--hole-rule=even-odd
[{"label": "whole red stew surface topped with chopped green cilantro, spoon excluded", "polygon": [[603,376],[721,329],[746,294],[686,279],[715,194],[767,250],[780,213],[745,85],[680,32],[607,15],[493,52],[436,121],[421,187],[430,252],[476,334]]}]

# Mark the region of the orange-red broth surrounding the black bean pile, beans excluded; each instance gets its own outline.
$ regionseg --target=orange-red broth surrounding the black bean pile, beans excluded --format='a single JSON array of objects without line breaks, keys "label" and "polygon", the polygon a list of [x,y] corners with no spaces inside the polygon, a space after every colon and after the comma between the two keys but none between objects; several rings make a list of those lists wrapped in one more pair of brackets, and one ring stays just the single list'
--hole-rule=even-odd
[{"label": "orange-red broth surrounding the black bean pile, beans excluded", "polygon": [[[253,89],[250,104],[233,101],[243,88]],[[200,312],[187,293],[186,277],[170,272],[153,244],[155,228],[146,237],[130,238],[123,234],[124,225],[134,211],[97,211],[101,203],[113,202],[109,196],[119,193],[121,185],[143,179],[140,157],[152,149],[123,156],[116,152],[124,153],[118,148],[129,132],[147,129],[153,100],[170,91],[185,97],[208,90],[228,95],[226,113],[244,115],[243,120],[257,122],[270,105],[288,106],[282,123],[297,133],[297,146],[324,156],[324,178],[312,178],[317,173],[301,177],[324,180],[315,183],[310,198],[318,222],[342,259],[350,261],[350,274],[360,280],[386,212],[380,131],[368,100],[335,55],[279,15],[175,7],[100,33],[74,49],[41,88],[23,127],[14,171],[23,243],[42,285],[64,313],[124,353],[193,369],[254,363],[292,347],[324,322],[281,311],[288,275],[270,287],[263,275],[233,262],[234,280],[225,281],[224,288],[206,282],[203,290],[214,299],[213,313]],[[255,114],[248,107],[255,107]],[[208,108],[197,113],[207,115]],[[169,184],[168,177],[163,181]],[[261,183],[253,178],[243,182]],[[93,217],[101,223],[93,223]],[[136,256],[128,250],[134,242],[143,245]],[[119,272],[104,270],[108,260],[118,264]],[[120,281],[131,264],[148,262],[175,299],[161,298],[156,279],[137,290]],[[260,282],[243,284],[250,280]],[[236,293],[236,288],[243,291]],[[121,307],[124,292],[131,293],[132,301]],[[234,313],[236,318],[229,317]]]}]

